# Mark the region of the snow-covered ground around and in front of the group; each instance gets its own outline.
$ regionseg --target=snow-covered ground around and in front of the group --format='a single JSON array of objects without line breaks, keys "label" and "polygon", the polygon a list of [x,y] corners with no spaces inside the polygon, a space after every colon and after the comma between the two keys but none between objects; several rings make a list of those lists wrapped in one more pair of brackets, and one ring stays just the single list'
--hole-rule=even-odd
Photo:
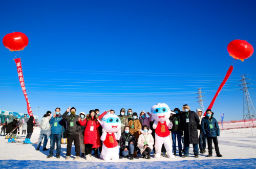
[{"label": "snow-covered ground around and in front of the group", "polygon": [[[38,141],[38,136],[39,136],[39,132],[40,132],[40,128],[35,128],[34,133],[32,134],[31,140],[32,142],[37,142]],[[76,164],[77,166],[80,166],[79,163],[81,163],[81,165],[83,166],[101,166],[104,165],[105,167],[108,166],[108,164],[111,164],[111,166],[116,167],[118,166],[119,168],[127,168],[128,166],[130,166],[131,162],[136,162],[136,165],[138,165],[137,167],[140,168],[144,165],[147,165],[148,167],[152,167],[156,164],[158,165],[163,165],[163,164],[178,164],[180,163],[181,165],[187,166],[186,161],[191,161],[192,163],[194,163],[192,165],[191,162],[189,162],[189,166],[187,167],[195,167],[197,165],[201,165],[202,163],[206,163],[208,162],[212,162],[212,161],[222,161],[223,164],[227,164],[227,161],[225,162],[225,160],[230,161],[230,159],[234,159],[231,161],[236,161],[237,159],[246,159],[247,160],[247,165],[250,164],[250,166],[247,166],[247,168],[252,167],[252,168],[256,168],[256,135],[248,135],[248,134],[229,134],[229,133],[223,133],[221,132],[221,136],[218,137],[219,139],[219,148],[220,148],[220,153],[223,155],[223,157],[219,158],[216,157],[216,153],[215,151],[213,151],[213,157],[211,158],[207,158],[207,154],[199,154],[199,158],[195,158],[193,155],[193,147],[191,147],[192,145],[190,145],[190,151],[189,151],[189,157],[188,158],[181,158],[181,157],[176,157],[175,159],[168,159],[167,157],[162,157],[159,159],[155,159],[154,155],[152,154],[152,158],[151,160],[147,160],[147,159],[142,159],[141,156],[138,156],[137,158],[135,158],[134,160],[130,160],[130,159],[124,159],[124,158],[120,158],[117,161],[110,161],[110,162],[106,162],[102,159],[98,159],[95,157],[92,157],[92,160],[87,161],[83,158],[80,158],[78,162],[78,164]],[[24,139],[17,139],[17,140],[24,140]],[[11,166],[11,163],[16,163],[17,165],[20,165],[22,163],[24,163],[24,165],[22,166],[26,166],[25,164],[27,163],[31,163],[29,166],[27,167],[31,167],[32,163],[35,164],[35,160],[39,160],[36,162],[36,164],[44,164],[44,165],[38,165],[37,168],[44,168],[47,167],[47,165],[49,164],[53,164],[52,161],[58,161],[61,163],[63,163],[63,165],[67,164],[67,160],[65,160],[66,158],[66,144],[61,144],[61,154],[60,154],[60,159],[57,159],[55,157],[52,157],[50,159],[47,159],[46,157],[49,154],[49,151],[42,151],[42,146],[40,148],[40,151],[36,151],[36,144],[20,144],[20,143],[7,143],[7,139],[5,139],[4,136],[0,137],[0,168],[10,168],[8,166]],[[50,149],[50,140],[48,141],[47,144],[47,148]],[[54,151],[54,153],[56,153]],[[72,161],[72,163],[76,163],[76,161],[73,161],[73,158],[75,157],[75,151],[74,151],[74,145],[72,148],[72,155],[71,155],[71,159],[69,161]],[[16,161],[18,160],[18,161]],[[223,161],[224,160],[224,161]],[[27,161],[27,162],[26,162]],[[231,162],[230,161],[230,162]],[[56,163],[56,164],[60,164],[60,163]],[[100,163],[102,164],[100,164]],[[114,163],[113,163],[114,162]],[[120,163],[121,162],[121,163]],[[138,162],[138,164],[137,164]],[[241,165],[245,163],[245,161],[243,162],[243,160],[241,161],[237,161],[236,163],[241,162]],[[84,164],[86,165],[84,165]],[[119,164],[118,164],[119,163]],[[229,162],[228,162],[229,163]],[[33,165],[32,165],[33,166]],[[165,166],[165,165],[164,165]],[[233,166],[233,164],[228,165],[228,166]],[[237,165],[236,165],[237,166]],[[13,165],[12,165],[13,167]],[[61,166],[57,166],[57,168],[59,168]],[[134,166],[135,167],[135,166]],[[133,167],[133,168],[134,168]],[[204,166],[206,167],[206,166]],[[242,166],[241,166],[242,167]]]}]

